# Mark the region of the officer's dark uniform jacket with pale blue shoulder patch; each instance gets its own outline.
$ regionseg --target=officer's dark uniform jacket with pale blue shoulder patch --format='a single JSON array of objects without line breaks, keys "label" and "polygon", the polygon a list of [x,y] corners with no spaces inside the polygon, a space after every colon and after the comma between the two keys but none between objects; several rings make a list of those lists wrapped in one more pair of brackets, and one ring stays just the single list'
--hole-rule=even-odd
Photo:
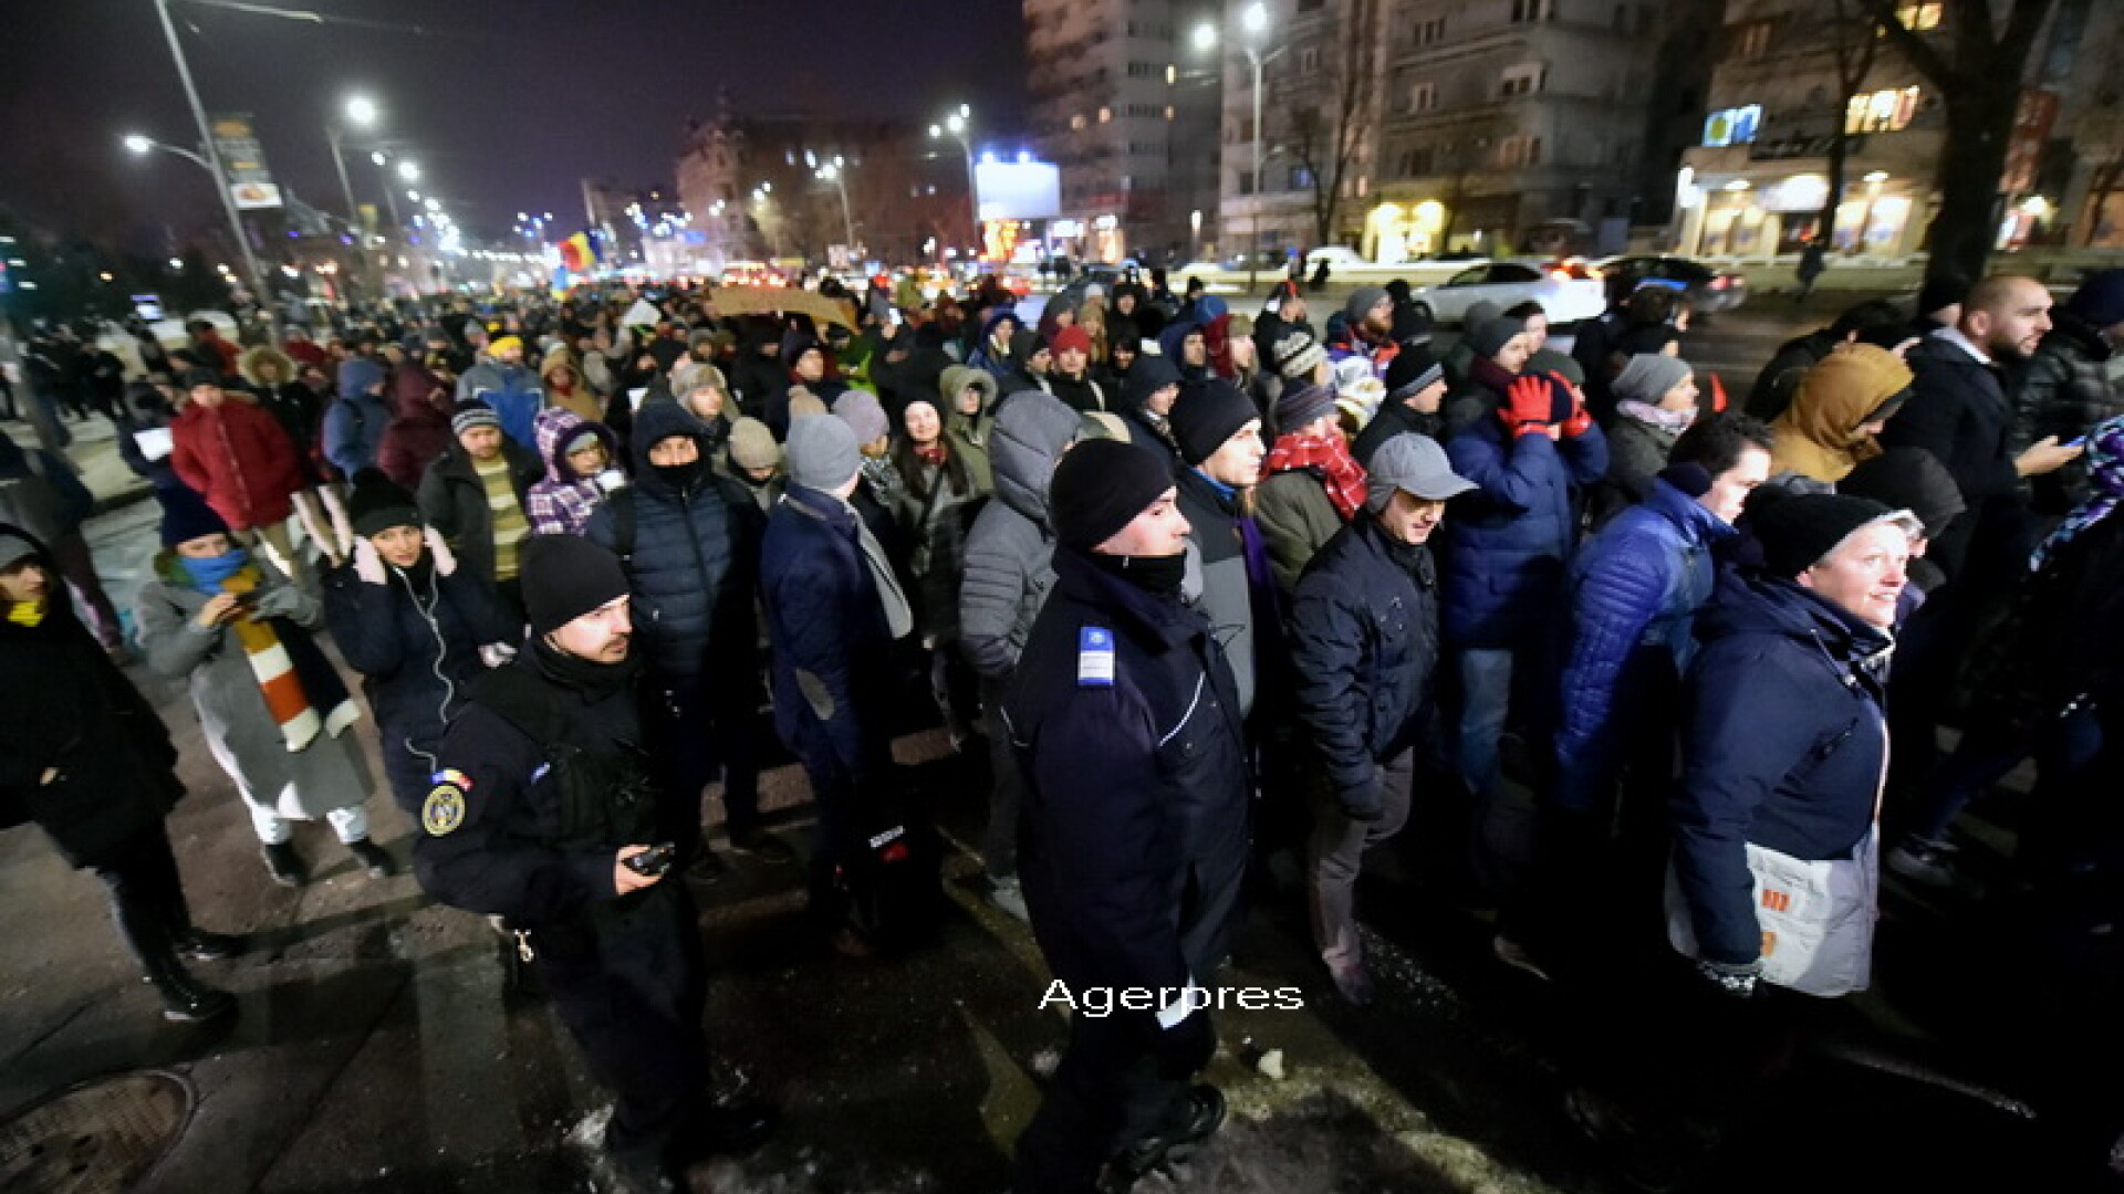
[{"label": "officer's dark uniform jacket with pale blue shoulder patch", "polygon": [[1056,977],[1206,984],[1238,922],[1251,782],[1209,622],[1060,548],[1005,712],[1028,786],[1020,875]]}]

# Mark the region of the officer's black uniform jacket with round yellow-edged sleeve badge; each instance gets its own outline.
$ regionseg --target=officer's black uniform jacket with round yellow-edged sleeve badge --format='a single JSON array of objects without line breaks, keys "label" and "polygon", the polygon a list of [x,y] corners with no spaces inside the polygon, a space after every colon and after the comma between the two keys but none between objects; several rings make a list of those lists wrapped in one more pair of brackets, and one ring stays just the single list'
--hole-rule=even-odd
[{"label": "officer's black uniform jacket with round yellow-edged sleeve badge", "polygon": [[614,854],[656,833],[637,671],[633,656],[597,665],[533,642],[478,680],[421,805],[429,892],[518,928],[614,899]]}]

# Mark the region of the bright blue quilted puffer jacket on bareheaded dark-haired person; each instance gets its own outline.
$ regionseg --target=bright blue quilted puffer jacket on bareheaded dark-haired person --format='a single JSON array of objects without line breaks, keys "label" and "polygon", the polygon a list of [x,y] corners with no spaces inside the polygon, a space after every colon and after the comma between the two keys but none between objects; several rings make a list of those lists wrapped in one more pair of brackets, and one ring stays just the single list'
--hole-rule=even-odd
[{"label": "bright blue quilted puffer jacket on bareheaded dark-haired person", "polygon": [[1561,807],[1597,807],[1614,780],[1623,727],[1646,712],[1648,690],[1689,669],[1691,629],[1718,574],[1712,544],[1731,533],[1725,518],[1655,478],[1652,493],[1578,555],[1557,727],[1553,799]]}]

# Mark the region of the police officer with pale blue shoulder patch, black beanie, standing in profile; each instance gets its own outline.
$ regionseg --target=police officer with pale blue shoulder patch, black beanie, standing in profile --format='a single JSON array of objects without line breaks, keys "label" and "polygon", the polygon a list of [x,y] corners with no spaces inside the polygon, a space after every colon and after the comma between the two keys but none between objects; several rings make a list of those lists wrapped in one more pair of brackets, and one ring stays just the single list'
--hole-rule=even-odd
[{"label": "police officer with pale blue shoulder patch, black beanie, standing in profile", "polygon": [[1175,499],[1166,459],[1115,440],[1049,482],[1056,589],[1005,718],[1032,933],[1075,1016],[1017,1194],[1094,1190],[1102,1164],[1132,1181],[1223,1122],[1189,1081],[1217,1047],[1204,984],[1238,924],[1249,773],[1232,669],[1181,603]]}]

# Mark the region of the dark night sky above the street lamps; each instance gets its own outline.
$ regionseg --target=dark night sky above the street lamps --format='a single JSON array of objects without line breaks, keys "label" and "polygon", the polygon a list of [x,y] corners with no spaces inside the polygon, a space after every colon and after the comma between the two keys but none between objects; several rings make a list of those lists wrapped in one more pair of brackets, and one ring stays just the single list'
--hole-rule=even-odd
[{"label": "dark night sky above the street lamps", "polygon": [[[389,28],[174,0],[206,108],[253,113],[276,181],[338,212],[325,121],[370,96],[380,136],[425,170],[414,187],[474,236],[518,210],[580,221],[584,176],[671,183],[686,117],[724,87],[739,113],[926,119],[971,102],[983,140],[1024,119],[1017,0],[259,2]],[[123,132],[198,144],[153,0],[0,0],[0,206],[134,242],[221,219],[200,168],[134,159]],[[382,204],[367,149],[348,174]]]}]

